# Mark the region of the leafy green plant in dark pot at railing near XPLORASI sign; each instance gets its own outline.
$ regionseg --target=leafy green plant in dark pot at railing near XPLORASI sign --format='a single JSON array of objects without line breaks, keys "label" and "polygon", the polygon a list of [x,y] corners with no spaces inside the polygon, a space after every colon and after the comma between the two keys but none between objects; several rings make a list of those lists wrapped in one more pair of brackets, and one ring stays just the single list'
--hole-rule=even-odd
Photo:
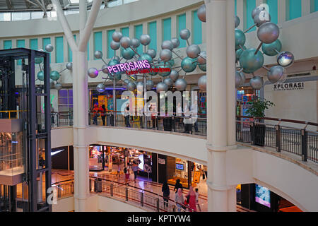
[{"label": "leafy green plant in dark pot at railing near XPLORASI sign", "polygon": [[[257,98],[256,100],[254,100],[253,105],[249,107],[249,109],[247,109],[246,113],[248,116],[251,117],[264,118],[265,110],[273,106],[275,106],[273,102],[266,99],[261,100]],[[252,124],[249,127],[253,144],[264,146],[266,126],[264,124]]]}]

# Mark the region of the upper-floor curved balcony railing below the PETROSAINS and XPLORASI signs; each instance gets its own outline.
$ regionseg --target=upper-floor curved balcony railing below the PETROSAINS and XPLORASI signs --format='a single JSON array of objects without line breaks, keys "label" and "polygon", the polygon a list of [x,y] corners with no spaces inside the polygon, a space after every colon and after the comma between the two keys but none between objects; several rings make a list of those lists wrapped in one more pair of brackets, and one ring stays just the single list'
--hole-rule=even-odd
[{"label": "upper-floor curved balcony railing below the PETROSAINS and XPLORASI signs", "polygon": [[[116,115],[114,115],[116,113]],[[190,133],[197,136],[206,136],[206,115],[198,114],[193,124],[185,124],[184,119],[189,117],[169,116],[124,116],[122,112],[107,111],[103,114],[90,113],[89,124],[99,126],[131,127],[136,129],[151,129],[158,131],[172,131],[175,133]],[[105,117],[105,119],[104,119]],[[266,122],[264,122],[266,121]],[[285,126],[282,123],[292,126]],[[284,150],[302,157],[302,161],[318,162],[318,133],[308,126],[317,123],[291,119],[259,118],[239,116],[236,121],[236,140],[252,145]]]}]

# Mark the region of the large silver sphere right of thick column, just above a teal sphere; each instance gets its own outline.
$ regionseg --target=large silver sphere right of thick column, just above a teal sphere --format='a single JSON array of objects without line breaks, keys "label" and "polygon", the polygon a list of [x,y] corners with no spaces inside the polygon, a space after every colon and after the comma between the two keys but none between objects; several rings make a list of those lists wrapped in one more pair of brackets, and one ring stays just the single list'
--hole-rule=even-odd
[{"label": "large silver sphere right of thick column, just above a teal sphere", "polygon": [[278,25],[271,22],[263,23],[257,30],[257,37],[266,44],[275,42],[279,37]]}]

